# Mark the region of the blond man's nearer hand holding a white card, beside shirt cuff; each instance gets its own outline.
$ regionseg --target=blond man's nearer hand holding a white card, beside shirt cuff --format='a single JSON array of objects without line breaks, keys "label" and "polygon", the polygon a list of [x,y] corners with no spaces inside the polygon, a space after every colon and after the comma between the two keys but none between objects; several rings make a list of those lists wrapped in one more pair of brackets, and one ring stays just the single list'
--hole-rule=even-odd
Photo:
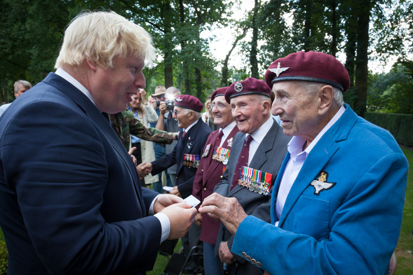
[{"label": "blond man's nearer hand holding a white card, beside shirt cuff", "polygon": [[170,232],[168,240],[179,239],[187,234],[191,227],[197,210],[191,205],[182,202],[169,205],[164,208],[161,213],[165,214],[169,218]]}]

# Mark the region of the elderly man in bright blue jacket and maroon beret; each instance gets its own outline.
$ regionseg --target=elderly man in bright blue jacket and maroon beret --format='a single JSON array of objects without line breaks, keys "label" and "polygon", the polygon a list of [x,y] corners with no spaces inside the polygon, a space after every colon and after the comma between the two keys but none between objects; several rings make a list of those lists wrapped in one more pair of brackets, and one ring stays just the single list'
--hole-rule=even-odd
[{"label": "elderly man in bright blue jacket and maroon beret", "polygon": [[[387,274],[400,232],[408,163],[393,136],[343,103],[348,73],[334,57],[297,52],[265,81],[293,136],[271,197],[271,224],[234,198],[199,209],[235,234],[231,252],[266,274]],[[281,172],[283,171],[283,172]]]}]

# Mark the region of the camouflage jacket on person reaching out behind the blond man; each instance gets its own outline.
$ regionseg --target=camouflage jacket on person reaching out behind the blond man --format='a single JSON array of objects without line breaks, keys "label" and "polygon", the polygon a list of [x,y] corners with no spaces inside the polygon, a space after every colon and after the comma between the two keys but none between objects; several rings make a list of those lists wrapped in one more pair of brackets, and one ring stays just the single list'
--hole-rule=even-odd
[{"label": "camouflage jacket on person reaching out behind the blond man", "polygon": [[156,143],[172,143],[173,133],[161,131],[152,127],[146,128],[141,121],[135,118],[133,113],[125,110],[117,114],[108,114],[114,130],[120,137],[126,150],[129,150],[131,134],[142,140]]}]

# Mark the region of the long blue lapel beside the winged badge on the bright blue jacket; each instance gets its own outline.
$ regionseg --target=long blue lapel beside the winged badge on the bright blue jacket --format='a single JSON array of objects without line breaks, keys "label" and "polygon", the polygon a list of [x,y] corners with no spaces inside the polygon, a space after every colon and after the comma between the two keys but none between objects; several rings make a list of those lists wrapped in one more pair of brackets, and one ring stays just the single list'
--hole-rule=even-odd
[{"label": "long blue lapel beside the winged badge on the bright blue jacket", "polygon": [[[356,123],[357,115],[347,104],[345,104],[345,107],[346,111],[336,121],[336,123],[334,123],[334,125],[331,126],[326,133],[324,133],[315,147],[310,151],[310,154],[307,156],[300,173],[292,184],[287,195],[278,227],[282,226],[294,203],[296,203],[304,190],[308,188],[311,181],[316,178],[318,173],[326,166],[335,152],[339,149],[337,142],[345,140],[351,127]],[[275,204],[273,204],[273,206],[275,206]]]}]

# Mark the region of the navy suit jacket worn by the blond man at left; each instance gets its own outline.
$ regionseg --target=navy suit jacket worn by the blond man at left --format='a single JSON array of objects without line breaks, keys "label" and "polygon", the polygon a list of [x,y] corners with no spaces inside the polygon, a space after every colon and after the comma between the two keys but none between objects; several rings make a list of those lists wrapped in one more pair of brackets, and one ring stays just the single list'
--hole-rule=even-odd
[{"label": "navy suit jacket worn by the blond man at left", "polygon": [[0,226],[10,274],[150,270],[161,225],[119,137],[50,73],[0,118]]}]

